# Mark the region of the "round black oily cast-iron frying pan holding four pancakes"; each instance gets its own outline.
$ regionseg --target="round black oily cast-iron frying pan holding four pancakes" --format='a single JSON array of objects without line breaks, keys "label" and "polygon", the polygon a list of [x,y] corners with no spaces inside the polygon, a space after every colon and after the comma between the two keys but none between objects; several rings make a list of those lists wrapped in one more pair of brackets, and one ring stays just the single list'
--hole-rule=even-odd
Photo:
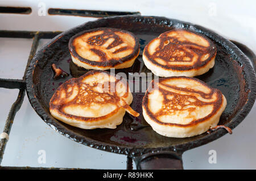
[{"label": "round black oily cast-iron frying pan holding four pancakes", "polygon": [[[216,64],[208,73],[197,78],[221,90],[227,99],[228,105],[220,117],[219,125],[234,129],[251,110],[255,101],[256,85],[254,61],[246,57],[231,41],[207,28],[176,19],[138,15],[114,16],[88,22],[61,33],[38,50],[28,66],[26,86],[32,107],[50,127],[71,140],[92,148],[126,154],[134,159],[137,169],[183,169],[181,156],[184,151],[207,144],[227,133],[225,129],[218,129],[189,138],[161,136],[143,119],[141,103],[144,92],[134,92],[131,104],[141,116],[133,117],[126,113],[123,123],[116,129],[84,130],[52,117],[49,113],[49,100],[56,88],[68,79],[79,77],[88,71],[78,68],[71,61],[69,39],[76,33],[98,27],[120,28],[133,32],[138,37],[141,51],[134,65],[115,71],[127,75],[150,72],[142,61],[143,48],[160,33],[182,28],[207,36],[217,47]],[[53,79],[52,64],[67,72],[68,77]]]}]

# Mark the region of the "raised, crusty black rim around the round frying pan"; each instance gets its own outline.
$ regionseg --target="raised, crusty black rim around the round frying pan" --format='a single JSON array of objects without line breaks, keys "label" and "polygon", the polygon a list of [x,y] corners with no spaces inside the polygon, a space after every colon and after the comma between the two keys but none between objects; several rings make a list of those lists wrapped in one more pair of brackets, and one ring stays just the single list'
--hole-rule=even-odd
[{"label": "raised, crusty black rim around the round frying pan", "polygon": [[84,24],[81,24],[80,26],[77,26],[77,27],[71,28],[68,31],[62,32],[59,35],[57,35],[55,38],[53,38],[51,41],[49,41],[42,48],[40,48],[38,52],[35,54],[35,56],[32,58],[31,63],[27,68],[26,92],[27,92],[28,99],[31,103],[31,106],[34,108],[36,113],[38,113],[38,115],[43,119],[43,121],[47,123],[47,125],[55,129],[56,132],[63,134],[65,137],[68,137],[73,141],[79,142],[80,144],[90,146],[92,148],[104,150],[104,151],[109,151],[112,153],[129,155],[130,157],[137,157],[139,155],[146,154],[149,152],[157,153],[159,151],[175,151],[177,153],[183,153],[186,150],[196,148],[197,146],[205,145],[208,142],[217,140],[217,138],[220,138],[227,133],[224,129],[218,129],[217,131],[212,132],[206,136],[200,137],[197,140],[188,141],[184,144],[166,146],[162,148],[145,148],[143,146],[137,147],[137,146],[126,146],[126,145],[117,146],[109,143],[106,144],[106,142],[92,140],[91,138],[82,136],[79,133],[75,133],[72,131],[68,132],[68,128],[65,128],[63,125],[61,125],[59,121],[55,121],[55,119],[51,115],[48,115],[48,113],[44,111],[42,104],[40,104],[39,100],[35,97],[35,89],[33,87],[33,84],[34,84],[33,72],[37,64],[38,57],[40,56],[40,52],[42,52],[43,49],[46,49],[47,47],[51,46],[51,44],[55,43],[61,37],[65,36],[68,32],[72,32],[77,28],[85,27],[90,23],[97,23],[105,19],[119,19],[119,18],[131,18],[135,20],[142,20],[142,19],[143,20],[150,20],[150,19],[164,20],[164,26],[172,26],[172,22],[178,22],[180,23],[180,26],[181,26],[180,28],[185,28],[187,30],[193,30],[198,33],[202,33],[203,35],[207,36],[209,39],[214,38],[214,41],[217,41],[217,43],[222,43],[223,47],[228,52],[233,52],[233,54],[236,55],[236,61],[239,60],[240,62],[243,62],[243,66],[244,66],[243,69],[247,77],[247,84],[248,84],[247,88],[250,90],[250,92],[247,95],[247,98],[248,98],[247,102],[243,104],[243,107],[241,107],[240,110],[237,111],[236,115],[228,124],[226,124],[226,126],[230,127],[231,129],[234,129],[235,127],[237,127],[238,124],[241,123],[243,119],[245,119],[245,117],[250,112],[255,102],[256,77],[255,77],[254,68],[250,64],[249,58],[247,58],[247,56],[236,45],[234,45],[231,41],[225,39],[224,37],[218,35],[217,33],[213,32],[212,30],[208,30],[207,28],[198,26],[196,24],[183,22],[176,19],[170,19],[162,16],[123,15],[123,16],[112,16],[108,18],[101,18],[101,19],[94,20],[93,22],[86,22]]}]

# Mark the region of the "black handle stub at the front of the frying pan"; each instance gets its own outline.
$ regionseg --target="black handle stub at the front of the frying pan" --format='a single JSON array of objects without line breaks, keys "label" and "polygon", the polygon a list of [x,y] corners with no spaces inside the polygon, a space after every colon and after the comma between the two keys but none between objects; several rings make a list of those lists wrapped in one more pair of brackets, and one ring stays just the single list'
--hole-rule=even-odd
[{"label": "black handle stub at the front of the frying pan", "polygon": [[147,153],[135,158],[138,170],[183,170],[182,154],[172,151]]}]

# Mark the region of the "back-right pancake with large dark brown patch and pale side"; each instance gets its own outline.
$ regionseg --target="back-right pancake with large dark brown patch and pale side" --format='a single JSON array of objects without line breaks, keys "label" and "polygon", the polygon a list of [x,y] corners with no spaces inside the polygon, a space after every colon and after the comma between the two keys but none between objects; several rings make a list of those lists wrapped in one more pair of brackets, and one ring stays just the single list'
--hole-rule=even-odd
[{"label": "back-right pancake with large dark brown patch and pale side", "polygon": [[188,30],[171,30],[146,45],[143,61],[160,77],[195,77],[213,68],[216,53],[216,46],[207,37]]}]

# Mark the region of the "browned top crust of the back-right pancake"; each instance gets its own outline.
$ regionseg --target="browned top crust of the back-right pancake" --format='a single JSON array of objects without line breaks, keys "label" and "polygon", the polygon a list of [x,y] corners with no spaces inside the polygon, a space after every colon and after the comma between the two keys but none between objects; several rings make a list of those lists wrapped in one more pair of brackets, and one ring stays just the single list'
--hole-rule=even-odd
[{"label": "browned top crust of the back-right pancake", "polygon": [[[177,38],[175,36],[173,36],[173,37],[167,36],[168,33],[171,33],[171,32],[186,32],[186,31],[189,33],[193,33],[197,36],[203,37],[205,40],[208,41],[209,46],[204,47],[202,45],[198,45],[198,44],[195,44],[192,42],[179,40],[179,38]],[[167,69],[167,70],[171,69],[171,70],[185,71],[185,70],[192,70],[192,69],[196,70],[196,69],[202,68],[205,65],[207,65],[208,62],[210,60],[212,60],[216,56],[216,53],[217,53],[216,45],[214,45],[214,43],[211,40],[209,40],[206,36],[201,35],[196,32],[191,32],[188,30],[175,29],[175,30],[167,31],[167,32],[162,33],[156,39],[160,40],[160,45],[159,45],[158,49],[156,49],[156,52],[154,52],[153,54],[150,54],[148,52],[148,46],[154,40],[153,39],[146,45],[146,47],[144,48],[143,54],[153,64],[160,66],[163,69]],[[184,53],[180,54],[179,52],[184,52]],[[209,56],[204,61],[201,61],[201,58],[204,58],[203,56],[205,54],[209,54]],[[195,55],[198,57],[197,57],[196,62],[193,65],[170,65],[170,64],[168,64],[168,62],[170,62],[170,61],[175,61],[177,63],[191,62],[192,58]],[[155,61],[155,58],[161,58],[165,62],[166,65],[159,64],[157,61]]]}]

